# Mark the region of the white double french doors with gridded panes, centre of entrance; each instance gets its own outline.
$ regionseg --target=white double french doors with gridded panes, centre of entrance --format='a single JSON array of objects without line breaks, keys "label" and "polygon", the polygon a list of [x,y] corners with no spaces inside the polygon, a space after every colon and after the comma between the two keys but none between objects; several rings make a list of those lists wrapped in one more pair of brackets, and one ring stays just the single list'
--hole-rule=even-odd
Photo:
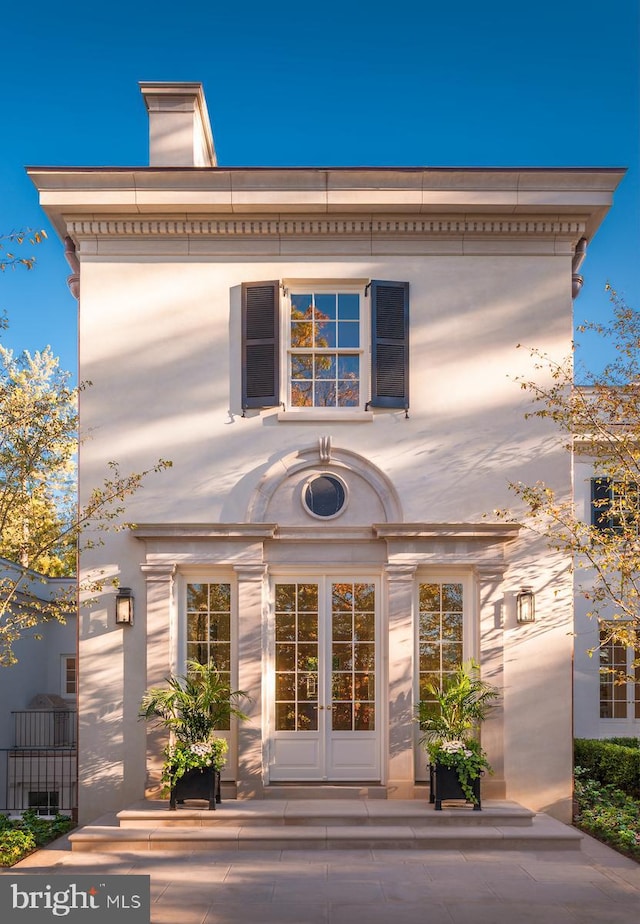
[{"label": "white double french doors with gridded panes, centre of entrance", "polygon": [[380,779],[377,591],[371,579],[275,583],[272,781]]}]

